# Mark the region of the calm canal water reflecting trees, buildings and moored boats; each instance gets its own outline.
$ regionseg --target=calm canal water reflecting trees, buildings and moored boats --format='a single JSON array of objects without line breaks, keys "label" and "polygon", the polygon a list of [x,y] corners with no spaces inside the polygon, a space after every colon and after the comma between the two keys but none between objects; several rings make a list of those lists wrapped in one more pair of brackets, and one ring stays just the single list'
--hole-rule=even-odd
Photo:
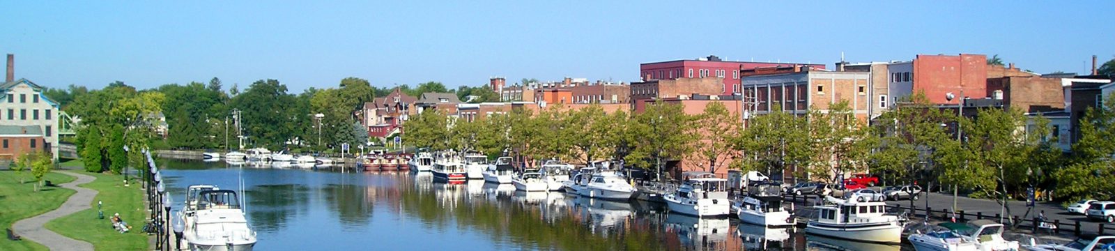
[{"label": "calm canal water reflecting trees, buildings and moored boats", "polygon": [[642,201],[436,183],[428,173],[158,165],[175,209],[188,185],[240,190],[243,183],[256,250],[913,250],[696,219]]}]

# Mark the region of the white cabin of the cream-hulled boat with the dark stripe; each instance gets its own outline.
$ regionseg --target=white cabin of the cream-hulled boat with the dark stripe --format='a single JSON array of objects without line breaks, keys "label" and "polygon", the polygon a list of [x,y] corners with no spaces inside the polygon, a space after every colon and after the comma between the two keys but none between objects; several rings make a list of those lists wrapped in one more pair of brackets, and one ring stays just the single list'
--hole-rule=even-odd
[{"label": "white cabin of the cream-hulled boat with the dark stripe", "polygon": [[[838,200],[838,199],[830,199]],[[884,202],[857,202],[856,197],[847,201],[815,206],[817,210],[817,222],[847,224],[847,223],[883,223],[894,221],[893,215],[886,213]]]}]

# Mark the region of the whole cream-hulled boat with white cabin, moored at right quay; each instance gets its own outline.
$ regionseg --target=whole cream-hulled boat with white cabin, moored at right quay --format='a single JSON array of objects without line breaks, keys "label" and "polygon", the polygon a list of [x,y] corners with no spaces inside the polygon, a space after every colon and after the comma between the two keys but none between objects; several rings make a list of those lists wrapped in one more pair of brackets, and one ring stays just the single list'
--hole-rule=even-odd
[{"label": "whole cream-hulled boat with white cabin, moored at right quay", "polygon": [[902,242],[902,223],[896,215],[886,214],[886,203],[865,196],[825,196],[825,202],[814,206],[817,218],[809,220],[806,233],[859,242]]}]

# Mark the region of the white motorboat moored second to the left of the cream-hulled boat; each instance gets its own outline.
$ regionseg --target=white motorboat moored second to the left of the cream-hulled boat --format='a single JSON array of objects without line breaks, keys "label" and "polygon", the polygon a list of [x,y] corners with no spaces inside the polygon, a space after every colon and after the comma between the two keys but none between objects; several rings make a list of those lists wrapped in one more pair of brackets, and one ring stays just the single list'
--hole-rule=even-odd
[{"label": "white motorboat moored second to the left of the cream-hulled boat", "polygon": [[728,215],[731,209],[728,180],[707,172],[689,178],[673,193],[662,195],[662,200],[670,212],[698,218]]}]

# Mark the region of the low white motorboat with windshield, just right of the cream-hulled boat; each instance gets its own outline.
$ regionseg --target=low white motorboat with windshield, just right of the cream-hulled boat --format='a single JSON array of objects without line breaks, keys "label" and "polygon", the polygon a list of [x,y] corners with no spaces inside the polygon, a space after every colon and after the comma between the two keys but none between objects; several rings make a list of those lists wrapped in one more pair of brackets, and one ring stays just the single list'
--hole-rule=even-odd
[{"label": "low white motorboat with windshield, just right of the cream-hulled boat", "polygon": [[[975,220],[968,223],[951,223],[946,222],[938,224],[940,228],[951,231],[954,235],[959,236],[961,242],[975,243],[976,249],[980,251],[1006,251],[1006,250],[1018,250],[1017,241],[1007,241],[1002,238],[1002,231],[1006,229],[1004,224],[996,223],[989,220]],[[914,235],[910,235],[910,242],[918,247],[918,243],[924,243],[924,249],[919,250],[942,250],[938,248],[948,248],[950,245],[941,245],[940,239],[930,235],[934,231],[922,231],[922,235],[918,236],[918,242],[914,242]],[[937,231],[940,232],[940,231]],[[939,233],[937,235],[944,235]],[[947,244],[958,243],[958,241],[946,241]],[[958,247],[958,249],[949,250],[966,250],[964,248]]]}]

